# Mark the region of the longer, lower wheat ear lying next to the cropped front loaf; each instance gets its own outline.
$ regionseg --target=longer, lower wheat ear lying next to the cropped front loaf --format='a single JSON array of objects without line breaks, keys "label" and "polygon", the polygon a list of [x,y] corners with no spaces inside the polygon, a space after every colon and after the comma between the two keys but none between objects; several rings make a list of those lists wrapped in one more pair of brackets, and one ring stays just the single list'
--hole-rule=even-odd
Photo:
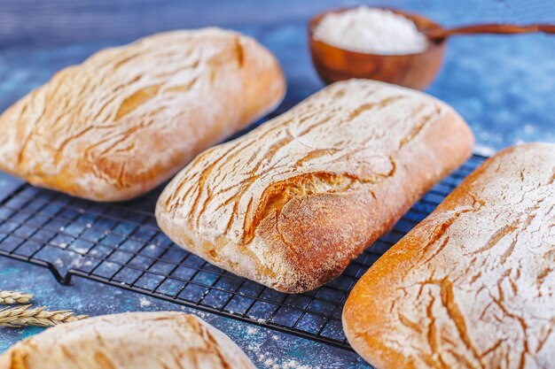
[{"label": "longer, lower wheat ear lying next to the cropped front loaf", "polygon": [[75,315],[69,310],[47,311],[43,307],[30,307],[31,305],[23,305],[0,310],[0,327],[52,327],[87,318],[86,315]]}]

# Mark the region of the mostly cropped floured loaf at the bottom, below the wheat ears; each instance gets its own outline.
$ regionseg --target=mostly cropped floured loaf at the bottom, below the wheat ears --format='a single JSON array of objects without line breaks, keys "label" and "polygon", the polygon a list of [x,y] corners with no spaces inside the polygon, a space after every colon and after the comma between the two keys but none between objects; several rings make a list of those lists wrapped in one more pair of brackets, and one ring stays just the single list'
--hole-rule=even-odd
[{"label": "mostly cropped floured loaf at the bottom, below the wheat ears", "polygon": [[254,369],[222,332],[183,312],[106,315],[53,327],[0,356],[0,369]]}]

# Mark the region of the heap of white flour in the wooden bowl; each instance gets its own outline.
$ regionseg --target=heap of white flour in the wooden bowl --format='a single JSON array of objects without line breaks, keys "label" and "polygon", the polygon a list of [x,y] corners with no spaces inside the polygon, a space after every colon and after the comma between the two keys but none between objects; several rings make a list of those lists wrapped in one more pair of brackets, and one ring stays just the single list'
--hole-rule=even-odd
[{"label": "heap of white flour in the wooden bowl", "polygon": [[427,46],[412,20],[367,6],[325,15],[314,37],[340,49],[379,55],[414,54]]}]

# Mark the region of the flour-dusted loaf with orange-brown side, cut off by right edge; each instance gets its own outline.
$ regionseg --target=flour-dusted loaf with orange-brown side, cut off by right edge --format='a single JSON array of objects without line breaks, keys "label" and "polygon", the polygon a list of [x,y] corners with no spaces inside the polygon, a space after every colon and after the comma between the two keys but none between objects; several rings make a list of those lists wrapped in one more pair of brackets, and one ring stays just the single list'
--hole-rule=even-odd
[{"label": "flour-dusted loaf with orange-brown side, cut off by right edge", "polygon": [[348,296],[353,348],[387,368],[553,368],[555,144],[504,150]]}]

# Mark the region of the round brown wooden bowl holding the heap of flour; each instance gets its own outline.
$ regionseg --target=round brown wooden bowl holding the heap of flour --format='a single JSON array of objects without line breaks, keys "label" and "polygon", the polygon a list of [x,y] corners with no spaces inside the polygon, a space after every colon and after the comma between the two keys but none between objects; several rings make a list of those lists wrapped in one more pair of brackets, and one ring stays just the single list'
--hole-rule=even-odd
[{"label": "round brown wooden bowl holding the heap of flour", "polygon": [[[345,12],[352,8],[331,11]],[[387,9],[387,8],[384,8]],[[387,9],[412,20],[418,31],[442,28],[431,19]],[[343,50],[314,38],[314,29],[320,19],[330,12],[318,14],[309,22],[309,44],[312,62],[325,83],[366,78],[385,81],[409,88],[424,89],[439,72],[445,53],[445,39],[428,42],[426,50],[406,55],[376,55]]]}]

